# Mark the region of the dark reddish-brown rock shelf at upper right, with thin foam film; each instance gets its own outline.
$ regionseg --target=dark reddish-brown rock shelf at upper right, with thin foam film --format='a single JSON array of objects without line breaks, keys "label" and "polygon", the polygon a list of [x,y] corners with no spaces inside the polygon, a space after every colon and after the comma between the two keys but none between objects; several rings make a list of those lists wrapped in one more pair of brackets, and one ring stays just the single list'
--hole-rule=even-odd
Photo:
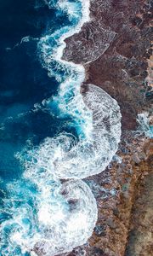
[{"label": "dark reddish-brown rock shelf at upper right, with thin foam film", "polygon": [[146,81],[153,39],[152,1],[91,0],[91,22],[67,38],[64,58],[82,63],[87,83],[108,92],[122,109],[122,129],[136,128],[137,114],[149,108]]}]

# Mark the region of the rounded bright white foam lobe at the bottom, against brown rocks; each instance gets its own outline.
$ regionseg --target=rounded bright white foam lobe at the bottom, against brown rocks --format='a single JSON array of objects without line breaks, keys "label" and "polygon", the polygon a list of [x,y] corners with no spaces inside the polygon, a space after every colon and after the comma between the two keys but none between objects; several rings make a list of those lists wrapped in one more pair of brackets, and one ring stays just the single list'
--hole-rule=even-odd
[{"label": "rounded bright white foam lobe at the bottom, against brown rocks", "polygon": [[85,183],[66,182],[60,188],[60,193],[62,196],[59,197],[54,190],[54,201],[42,197],[38,212],[43,236],[37,240],[35,250],[48,256],[69,252],[85,243],[92,235],[97,219],[97,204]]}]

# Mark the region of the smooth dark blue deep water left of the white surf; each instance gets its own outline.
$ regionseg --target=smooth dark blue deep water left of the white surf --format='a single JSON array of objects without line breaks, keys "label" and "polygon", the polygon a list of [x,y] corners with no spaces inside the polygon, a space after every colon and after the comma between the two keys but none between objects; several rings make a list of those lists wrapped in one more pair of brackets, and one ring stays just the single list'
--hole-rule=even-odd
[{"label": "smooth dark blue deep water left of the white surf", "polygon": [[[37,42],[48,30],[54,32],[70,21],[43,1],[5,0],[0,7],[0,175],[9,180],[20,177],[22,167],[14,154],[27,139],[36,145],[59,130],[70,130],[65,127],[67,119],[56,119],[41,109],[31,111],[59,86],[42,68]],[[27,36],[33,39],[20,44]]]}]

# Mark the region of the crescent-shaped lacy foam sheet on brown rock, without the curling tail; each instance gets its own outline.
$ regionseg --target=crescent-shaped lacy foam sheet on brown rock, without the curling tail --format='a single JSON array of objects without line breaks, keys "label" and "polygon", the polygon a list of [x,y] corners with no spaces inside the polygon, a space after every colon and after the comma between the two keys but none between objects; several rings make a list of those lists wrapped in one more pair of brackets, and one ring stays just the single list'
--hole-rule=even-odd
[{"label": "crescent-shaped lacy foam sheet on brown rock, without the curling tail", "polygon": [[120,142],[121,113],[116,100],[88,84],[84,102],[93,112],[92,136],[54,161],[54,174],[59,178],[84,178],[104,171]]}]

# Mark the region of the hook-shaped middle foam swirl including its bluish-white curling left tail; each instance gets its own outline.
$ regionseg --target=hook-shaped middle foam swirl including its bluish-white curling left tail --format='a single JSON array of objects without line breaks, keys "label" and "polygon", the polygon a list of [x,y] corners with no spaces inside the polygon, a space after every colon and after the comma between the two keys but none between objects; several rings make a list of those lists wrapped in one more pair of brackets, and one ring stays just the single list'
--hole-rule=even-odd
[{"label": "hook-shaped middle foam swirl including its bluish-white curling left tail", "polygon": [[102,172],[109,165],[121,137],[120,108],[116,100],[93,84],[88,84],[83,101],[93,113],[92,129],[86,131],[88,136],[80,137],[78,143],[66,133],[46,138],[29,152],[33,160],[26,161],[26,177],[32,173],[40,180],[38,170],[44,169],[50,178],[84,178]]}]

